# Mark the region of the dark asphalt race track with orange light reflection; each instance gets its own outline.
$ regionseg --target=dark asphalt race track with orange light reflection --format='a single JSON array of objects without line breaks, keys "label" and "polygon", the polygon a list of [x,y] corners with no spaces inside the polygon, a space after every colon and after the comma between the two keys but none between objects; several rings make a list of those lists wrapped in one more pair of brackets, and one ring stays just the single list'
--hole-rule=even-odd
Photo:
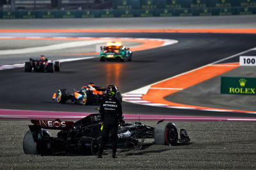
[{"label": "dark asphalt race track with orange light reflection", "polygon": [[[63,63],[56,73],[25,73],[23,68],[0,72],[0,108],[45,111],[93,112],[94,106],[57,104],[51,100],[59,88],[68,91],[88,82],[100,86],[116,84],[122,93],[141,88],[168,77],[188,72],[219,59],[227,58],[255,47],[256,35],[239,34],[186,34],[186,33],[16,33],[6,36],[99,36],[167,38],[179,43],[157,49],[134,52],[133,61],[125,63],[99,62],[99,59]],[[75,51],[70,50],[70,53]],[[236,59],[233,59],[237,61]],[[180,99],[180,98],[179,98]],[[218,98],[216,98],[218,100]],[[182,98],[181,98],[182,100]],[[197,116],[255,117],[253,114],[189,111],[144,105],[123,104],[129,114],[183,114]]]}]

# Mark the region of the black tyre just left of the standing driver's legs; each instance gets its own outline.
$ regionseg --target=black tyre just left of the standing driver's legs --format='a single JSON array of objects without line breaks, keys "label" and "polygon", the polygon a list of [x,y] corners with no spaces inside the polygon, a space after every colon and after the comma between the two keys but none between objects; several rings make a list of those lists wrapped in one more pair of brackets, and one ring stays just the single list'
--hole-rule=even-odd
[{"label": "black tyre just left of the standing driver's legs", "polygon": [[82,136],[78,141],[78,150],[81,155],[96,155],[99,151],[99,143],[97,139]]}]

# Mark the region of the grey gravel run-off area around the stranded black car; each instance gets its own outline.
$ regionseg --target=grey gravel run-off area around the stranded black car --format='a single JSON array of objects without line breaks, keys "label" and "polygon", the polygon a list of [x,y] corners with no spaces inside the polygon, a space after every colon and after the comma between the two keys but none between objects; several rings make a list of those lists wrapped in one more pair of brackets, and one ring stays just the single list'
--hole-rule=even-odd
[{"label": "grey gravel run-off area around the stranded black car", "polygon": [[[156,126],[155,121],[143,121]],[[161,146],[148,139],[143,150],[104,151],[93,156],[25,155],[22,149],[28,120],[1,120],[0,169],[255,169],[254,122],[173,121],[188,131],[191,143]],[[49,131],[52,135],[56,130]],[[58,132],[58,130],[57,130]]]}]

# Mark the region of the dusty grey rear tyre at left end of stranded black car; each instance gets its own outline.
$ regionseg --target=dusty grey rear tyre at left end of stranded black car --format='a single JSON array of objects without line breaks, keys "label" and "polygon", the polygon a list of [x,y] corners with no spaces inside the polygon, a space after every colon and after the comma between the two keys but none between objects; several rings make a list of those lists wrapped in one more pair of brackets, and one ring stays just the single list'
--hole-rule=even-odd
[{"label": "dusty grey rear tyre at left end of stranded black car", "polygon": [[37,143],[34,142],[33,135],[30,130],[26,132],[23,139],[23,150],[25,154],[38,154]]}]

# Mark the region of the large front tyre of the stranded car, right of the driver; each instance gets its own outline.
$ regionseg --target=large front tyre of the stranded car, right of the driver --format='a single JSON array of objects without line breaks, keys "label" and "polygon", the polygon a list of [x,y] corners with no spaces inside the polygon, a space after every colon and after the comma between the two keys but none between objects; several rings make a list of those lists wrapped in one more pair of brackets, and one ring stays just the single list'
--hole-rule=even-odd
[{"label": "large front tyre of the stranded car, right of the driver", "polygon": [[176,145],[178,142],[178,131],[173,123],[161,121],[154,131],[154,141],[156,144]]}]

